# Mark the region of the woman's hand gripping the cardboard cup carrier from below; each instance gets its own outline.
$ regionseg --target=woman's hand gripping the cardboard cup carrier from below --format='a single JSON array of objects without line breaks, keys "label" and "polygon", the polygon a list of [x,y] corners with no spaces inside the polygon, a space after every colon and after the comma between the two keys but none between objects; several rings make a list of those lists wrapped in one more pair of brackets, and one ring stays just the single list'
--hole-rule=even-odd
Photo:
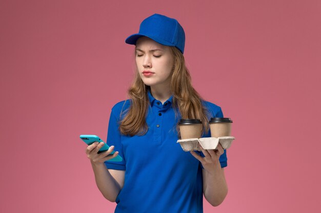
[{"label": "woman's hand gripping the cardboard cup carrier from below", "polygon": [[205,157],[202,157],[200,155],[197,155],[194,151],[190,151],[190,153],[199,160],[204,169],[209,173],[214,173],[215,167],[217,163],[219,163],[219,156],[224,153],[224,149],[222,146],[218,143],[216,150],[205,150],[202,146],[199,144],[199,149],[203,152]]}]

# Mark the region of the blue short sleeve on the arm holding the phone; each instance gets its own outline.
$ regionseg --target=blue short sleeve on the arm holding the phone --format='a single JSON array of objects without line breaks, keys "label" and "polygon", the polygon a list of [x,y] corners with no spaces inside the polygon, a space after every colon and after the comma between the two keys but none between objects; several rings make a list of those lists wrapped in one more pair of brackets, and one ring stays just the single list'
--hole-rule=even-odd
[{"label": "blue short sleeve on the arm holding the phone", "polygon": [[108,146],[115,146],[114,151],[118,151],[118,155],[123,158],[122,161],[105,161],[107,169],[126,170],[126,160],[124,156],[124,148],[121,140],[121,133],[119,132],[119,124],[117,117],[111,110],[108,124],[108,133],[106,143]]}]

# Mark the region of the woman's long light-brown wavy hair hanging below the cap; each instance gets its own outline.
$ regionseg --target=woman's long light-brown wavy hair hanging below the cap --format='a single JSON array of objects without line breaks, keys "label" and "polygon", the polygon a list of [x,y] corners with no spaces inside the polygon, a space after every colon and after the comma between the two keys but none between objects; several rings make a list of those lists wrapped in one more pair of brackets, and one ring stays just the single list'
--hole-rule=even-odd
[{"label": "woman's long light-brown wavy hair hanging below the cap", "polygon": [[[193,88],[191,76],[185,65],[183,54],[174,46],[171,46],[174,57],[174,66],[171,75],[171,92],[173,94],[172,107],[176,117],[182,119],[200,119],[204,132],[208,132],[208,110],[202,105],[202,99]],[[149,107],[147,90],[149,86],[144,84],[136,68],[135,77],[132,85],[128,89],[130,97],[130,107],[124,119],[119,125],[119,131],[124,135],[144,135],[148,131],[146,116]],[[122,112],[123,113],[123,112]],[[177,128],[179,133],[179,129]]]}]

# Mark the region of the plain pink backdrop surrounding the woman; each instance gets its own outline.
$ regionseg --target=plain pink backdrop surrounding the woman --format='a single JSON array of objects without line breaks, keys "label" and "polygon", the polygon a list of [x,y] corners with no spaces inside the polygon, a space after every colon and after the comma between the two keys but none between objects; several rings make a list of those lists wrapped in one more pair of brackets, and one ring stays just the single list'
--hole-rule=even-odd
[{"label": "plain pink backdrop surrounding the woman", "polygon": [[0,212],[114,212],[79,135],[106,139],[124,40],[154,13],[184,27],[193,85],[234,122],[228,196],[204,212],[320,212],[318,0],[2,0]]}]

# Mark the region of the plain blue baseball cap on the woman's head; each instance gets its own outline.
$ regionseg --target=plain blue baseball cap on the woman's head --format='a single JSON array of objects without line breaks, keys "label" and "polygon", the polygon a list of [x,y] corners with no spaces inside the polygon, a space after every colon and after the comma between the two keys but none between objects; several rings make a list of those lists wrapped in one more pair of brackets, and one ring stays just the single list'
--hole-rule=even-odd
[{"label": "plain blue baseball cap on the woman's head", "polygon": [[137,39],[142,36],[147,36],[163,45],[176,46],[182,54],[184,53],[185,32],[174,18],[155,13],[145,18],[139,26],[139,32],[126,38],[125,42],[136,44]]}]

